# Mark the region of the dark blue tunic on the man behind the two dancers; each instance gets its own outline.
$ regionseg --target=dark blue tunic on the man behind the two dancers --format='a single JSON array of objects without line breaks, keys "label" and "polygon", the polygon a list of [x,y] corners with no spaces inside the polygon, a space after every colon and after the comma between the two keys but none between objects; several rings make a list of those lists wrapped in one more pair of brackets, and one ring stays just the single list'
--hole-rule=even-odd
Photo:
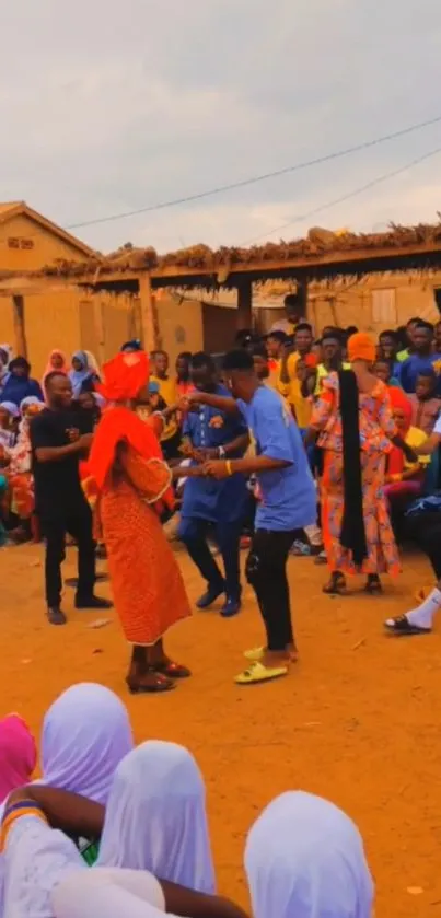
[{"label": "dark blue tunic on the man behind the two dancers", "polygon": [[[231,393],[222,385],[216,387],[214,394],[231,398]],[[239,415],[227,414],[209,405],[198,405],[195,411],[188,411],[183,427],[184,437],[188,437],[194,446],[201,449],[223,446],[243,433],[247,433],[247,428]],[[243,452],[230,453],[229,457],[240,458]],[[247,497],[246,479],[242,474],[232,475],[222,481],[188,478],[181,515],[210,523],[234,523],[244,516]]]}]

